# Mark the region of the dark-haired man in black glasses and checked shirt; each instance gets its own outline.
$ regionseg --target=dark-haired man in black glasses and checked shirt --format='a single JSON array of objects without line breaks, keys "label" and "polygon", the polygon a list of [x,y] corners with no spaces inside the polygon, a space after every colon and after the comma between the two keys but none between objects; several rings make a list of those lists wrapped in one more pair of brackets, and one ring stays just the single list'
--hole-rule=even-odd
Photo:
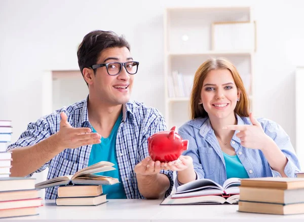
[{"label": "dark-haired man in black glasses and checked shirt", "polygon": [[[168,196],[172,171],[161,170],[161,163],[150,160],[147,152],[147,138],[166,130],[165,120],[157,109],[129,102],[139,65],[129,43],[114,32],[96,30],[84,37],[77,55],[89,88],[87,99],[28,124],[8,147],[11,176],[31,176],[49,167],[51,179],[110,161],[117,170],[103,175],[121,182],[103,187],[107,198]],[[46,189],[46,199],[56,195],[57,187]]]}]

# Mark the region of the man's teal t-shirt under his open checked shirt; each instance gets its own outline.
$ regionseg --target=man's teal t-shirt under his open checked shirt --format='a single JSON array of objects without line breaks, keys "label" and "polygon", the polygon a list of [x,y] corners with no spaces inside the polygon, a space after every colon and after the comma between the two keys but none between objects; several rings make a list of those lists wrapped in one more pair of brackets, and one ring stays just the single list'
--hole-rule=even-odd
[{"label": "man's teal t-shirt under his open checked shirt", "polygon": [[[118,178],[119,181],[122,180],[121,180],[121,175],[119,173],[117,156],[116,156],[116,136],[122,118],[123,118],[123,113],[121,113],[120,116],[118,117],[110,135],[107,138],[101,137],[101,143],[94,144],[92,146],[92,150],[89,158],[89,164],[88,164],[88,166],[91,166],[100,161],[109,161],[115,164],[114,167],[116,168],[116,170],[110,170],[107,172],[100,172],[96,174]],[[96,130],[94,128],[93,128],[93,132],[96,133]],[[102,191],[104,194],[107,194],[106,196],[107,199],[127,199],[123,183],[121,182],[112,185],[104,185],[102,186]]]}]

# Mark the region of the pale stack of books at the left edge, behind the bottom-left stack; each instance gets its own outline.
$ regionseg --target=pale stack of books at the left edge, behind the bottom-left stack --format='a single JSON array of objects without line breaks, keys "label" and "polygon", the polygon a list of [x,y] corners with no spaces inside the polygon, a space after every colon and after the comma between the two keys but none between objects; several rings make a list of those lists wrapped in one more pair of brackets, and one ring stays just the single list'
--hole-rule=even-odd
[{"label": "pale stack of books at the left edge, behind the bottom-left stack", "polygon": [[13,133],[12,122],[0,120],[0,178],[10,176],[12,154],[6,152]]}]

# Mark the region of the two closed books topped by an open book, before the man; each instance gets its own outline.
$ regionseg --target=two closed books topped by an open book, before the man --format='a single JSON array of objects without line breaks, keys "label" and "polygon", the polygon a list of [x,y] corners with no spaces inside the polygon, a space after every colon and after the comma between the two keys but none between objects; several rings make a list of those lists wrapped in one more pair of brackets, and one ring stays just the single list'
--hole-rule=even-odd
[{"label": "two closed books topped by an open book, before the man", "polygon": [[101,161],[84,168],[74,175],[55,177],[35,185],[36,189],[58,187],[56,204],[58,206],[96,206],[106,201],[102,185],[118,183],[117,178],[94,173],[115,170],[113,163]]}]

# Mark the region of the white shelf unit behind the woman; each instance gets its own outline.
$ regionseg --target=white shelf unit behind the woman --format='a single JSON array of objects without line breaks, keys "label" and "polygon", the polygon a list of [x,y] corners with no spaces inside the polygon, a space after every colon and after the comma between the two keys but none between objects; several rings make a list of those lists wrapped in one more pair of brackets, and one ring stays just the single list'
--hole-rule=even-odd
[{"label": "white shelf unit behind the woman", "polygon": [[[174,85],[173,82],[177,81],[176,78],[172,77],[172,72],[181,73],[182,78],[180,81],[185,80],[183,78],[189,81],[189,79],[194,77],[198,67],[210,57],[225,57],[237,67],[247,89],[252,110],[254,98],[252,90],[254,51],[211,50],[212,24],[214,22],[252,22],[251,14],[250,7],[168,8],[165,10],[164,81],[165,118],[168,128],[172,126],[180,127],[191,118],[189,92],[187,91],[187,95],[179,93],[182,96],[169,96],[169,89],[172,91],[172,87],[174,88],[172,84]],[[186,87],[186,89],[189,89],[189,87]],[[176,91],[174,92],[176,94]]]}]

